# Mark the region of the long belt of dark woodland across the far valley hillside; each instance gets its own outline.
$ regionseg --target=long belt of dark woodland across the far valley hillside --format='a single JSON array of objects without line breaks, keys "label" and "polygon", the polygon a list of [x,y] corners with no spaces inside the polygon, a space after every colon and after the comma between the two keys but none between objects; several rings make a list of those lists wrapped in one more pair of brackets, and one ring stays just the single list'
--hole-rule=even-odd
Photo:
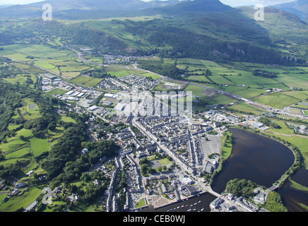
[{"label": "long belt of dark woodland across the far valley hillside", "polygon": [[[191,23],[192,28],[199,28],[208,20],[210,18],[205,20],[201,18],[195,22],[188,21],[187,23]],[[117,33],[124,32],[133,36],[138,35],[139,38],[134,43],[128,41],[125,35],[109,35],[107,32],[85,25],[85,23],[64,24],[56,20],[44,23],[44,21],[38,19],[32,19],[25,23],[24,27],[14,29],[13,35],[9,37],[6,37],[8,30],[3,33],[0,32],[0,36],[4,36],[6,44],[20,39],[25,41],[25,38],[33,42],[33,34],[37,32],[38,35],[45,37],[46,35],[50,38],[53,35],[60,37],[64,44],[81,44],[92,47],[97,52],[112,52],[114,54],[139,56],[159,54],[160,57],[184,57],[220,62],[251,61],[262,64],[306,64],[301,56],[288,57],[276,51],[276,45],[271,41],[268,33],[259,25],[251,24],[250,20],[245,20],[242,26],[237,23],[242,20],[232,20],[230,28],[224,25],[225,18],[216,20],[218,18],[213,23],[218,23],[219,27],[223,26],[223,28],[230,30],[232,33],[230,40],[225,39],[225,35],[223,35],[225,31],[220,30],[220,28],[215,28],[218,32],[218,38],[216,38],[195,32],[194,29],[184,28],[176,20],[174,20],[174,25],[167,24],[165,20],[138,22],[112,20],[110,24],[119,24]],[[253,32],[254,30],[256,31]],[[20,35],[21,32],[24,32],[25,35]],[[10,30],[9,33],[12,33],[12,31]],[[219,39],[220,35],[223,35],[224,38]]]}]

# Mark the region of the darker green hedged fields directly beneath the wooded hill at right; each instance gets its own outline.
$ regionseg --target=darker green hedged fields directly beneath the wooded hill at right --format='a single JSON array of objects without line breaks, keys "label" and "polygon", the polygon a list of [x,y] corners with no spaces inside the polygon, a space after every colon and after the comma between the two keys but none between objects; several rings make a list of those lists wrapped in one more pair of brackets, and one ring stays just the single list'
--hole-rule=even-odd
[{"label": "darker green hedged fields directly beneath the wooded hill at right", "polygon": [[[199,59],[177,59],[177,67],[188,71],[187,79],[205,83],[245,85],[249,88],[283,88],[283,90],[289,90],[290,87],[308,87],[307,67],[273,66],[245,62],[218,64]],[[211,76],[205,76],[207,69],[211,71]],[[254,76],[252,74],[254,70],[277,73],[277,78]]]}]

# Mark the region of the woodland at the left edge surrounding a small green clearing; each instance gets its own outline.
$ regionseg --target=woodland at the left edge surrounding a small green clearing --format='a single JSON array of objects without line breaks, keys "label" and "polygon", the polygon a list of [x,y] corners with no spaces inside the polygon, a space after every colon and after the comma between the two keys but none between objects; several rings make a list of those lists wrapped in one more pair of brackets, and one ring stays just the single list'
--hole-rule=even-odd
[{"label": "woodland at the left edge surrounding a small green clearing", "polygon": [[[25,106],[25,99],[31,99],[39,107],[42,117],[26,121],[20,113],[19,107]],[[58,103],[57,98],[46,95],[42,90],[33,90],[27,85],[13,85],[0,81],[0,142],[6,143],[6,138],[15,136],[20,129],[31,129],[33,135],[40,135],[47,129],[50,122],[54,121],[53,103]],[[17,113],[17,117],[12,118]],[[9,130],[8,124],[16,124],[16,129]],[[23,139],[23,138],[20,138]],[[26,157],[29,154],[24,155]],[[30,157],[30,156],[29,156]],[[4,160],[0,153],[0,160]],[[18,160],[16,164],[1,166],[1,176],[19,177],[23,175],[23,167],[29,165],[30,160]]]}]

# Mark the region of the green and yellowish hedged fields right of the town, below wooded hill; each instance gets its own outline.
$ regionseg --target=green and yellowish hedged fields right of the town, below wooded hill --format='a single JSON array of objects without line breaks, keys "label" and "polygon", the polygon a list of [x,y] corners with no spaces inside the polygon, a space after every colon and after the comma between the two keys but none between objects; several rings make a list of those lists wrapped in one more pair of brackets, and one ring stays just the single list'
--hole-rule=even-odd
[{"label": "green and yellowish hedged fields right of the town, below wooded hill", "polygon": [[[165,59],[164,59],[165,61]],[[173,63],[175,60],[173,61]],[[308,91],[290,91],[292,88],[308,88],[308,67],[304,66],[278,66],[268,64],[254,64],[247,62],[230,62],[230,64],[219,64],[213,61],[200,59],[177,59],[177,67],[186,69],[186,80],[206,86],[225,90],[246,99],[254,98],[256,102],[271,107],[286,107],[296,104],[302,100],[307,100]],[[211,71],[211,75],[206,76],[206,70]],[[254,76],[254,70],[263,70],[276,73],[275,78],[263,78]],[[268,89],[280,88],[283,94],[267,95]],[[195,95],[204,97],[199,88],[189,87]],[[215,101],[214,101],[215,102]],[[221,102],[221,104],[226,101]],[[258,110],[251,109],[244,105],[235,105],[242,112],[253,112],[258,114]],[[233,107],[233,108],[235,108]]]}]

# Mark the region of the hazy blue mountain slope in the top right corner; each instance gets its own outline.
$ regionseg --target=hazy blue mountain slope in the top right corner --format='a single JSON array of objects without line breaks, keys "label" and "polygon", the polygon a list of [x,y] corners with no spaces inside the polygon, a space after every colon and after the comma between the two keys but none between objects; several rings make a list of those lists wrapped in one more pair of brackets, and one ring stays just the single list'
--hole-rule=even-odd
[{"label": "hazy blue mountain slope in the top right corner", "polygon": [[274,8],[293,13],[302,20],[308,22],[308,0],[292,1],[290,3],[278,4]]}]

